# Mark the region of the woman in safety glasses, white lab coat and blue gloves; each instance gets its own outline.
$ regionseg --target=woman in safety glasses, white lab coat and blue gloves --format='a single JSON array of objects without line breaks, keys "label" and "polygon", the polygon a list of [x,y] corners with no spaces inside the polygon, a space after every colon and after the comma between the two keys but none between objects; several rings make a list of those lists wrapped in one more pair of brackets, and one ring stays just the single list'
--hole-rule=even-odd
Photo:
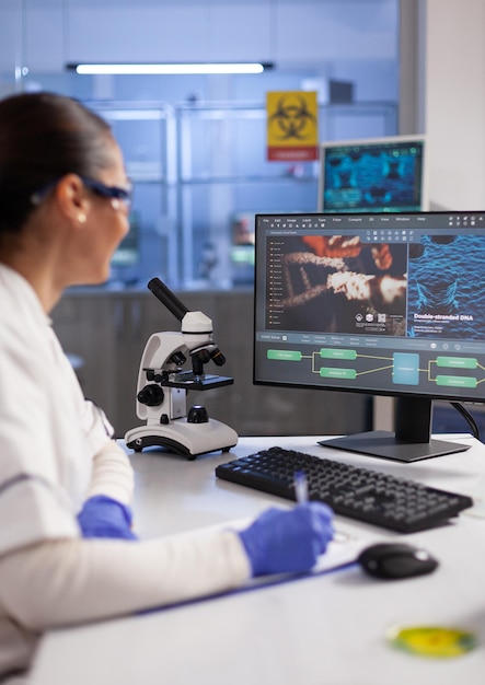
[{"label": "woman in safety glasses, white lab coat and blue gloves", "polygon": [[130,185],[107,124],[49,93],[0,102],[0,681],[27,682],[46,630],[309,569],[332,538],[315,502],[246,530],[139,541],[132,474],[49,320],[108,277]]}]

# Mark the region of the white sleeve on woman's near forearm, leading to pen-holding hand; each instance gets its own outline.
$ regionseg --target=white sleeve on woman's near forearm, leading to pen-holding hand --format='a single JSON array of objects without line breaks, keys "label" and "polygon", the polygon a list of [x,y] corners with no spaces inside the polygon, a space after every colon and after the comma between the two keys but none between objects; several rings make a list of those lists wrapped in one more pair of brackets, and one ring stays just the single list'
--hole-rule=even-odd
[{"label": "white sleeve on woman's near forearm, leading to pen-holding hand", "polygon": [[0,604],[25,628],[45,631],[207,596],[249,577],[232,531],[49,541],[0,558]]}]

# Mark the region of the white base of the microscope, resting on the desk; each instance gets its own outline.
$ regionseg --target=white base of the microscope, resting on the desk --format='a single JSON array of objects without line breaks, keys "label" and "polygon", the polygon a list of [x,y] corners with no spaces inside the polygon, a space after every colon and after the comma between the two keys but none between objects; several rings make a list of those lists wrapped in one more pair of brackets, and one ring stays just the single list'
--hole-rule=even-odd
[{"label": "white base of the microscope, resting on the desk", "polygon": [[161,446],[194,460],[206,452],[229,452],[238,444],[238,433],[215,419],[209,419],[207,423],[188,423],[181,418],[169,425],[152,423],[132,428],[125,434],[125,442],[135,452],[141,452],[143,448]]}]

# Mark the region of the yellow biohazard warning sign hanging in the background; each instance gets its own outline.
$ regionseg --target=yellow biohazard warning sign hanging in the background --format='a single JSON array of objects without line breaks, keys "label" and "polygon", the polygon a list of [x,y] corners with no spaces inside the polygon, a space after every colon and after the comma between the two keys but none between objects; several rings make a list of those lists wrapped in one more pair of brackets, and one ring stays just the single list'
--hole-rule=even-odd
[{"label": "yellow biohazard warning sign hanging in the background", "polygon": [[319,105],[313,91],[266,93],[267,159],[310,162],[319,159]]}]

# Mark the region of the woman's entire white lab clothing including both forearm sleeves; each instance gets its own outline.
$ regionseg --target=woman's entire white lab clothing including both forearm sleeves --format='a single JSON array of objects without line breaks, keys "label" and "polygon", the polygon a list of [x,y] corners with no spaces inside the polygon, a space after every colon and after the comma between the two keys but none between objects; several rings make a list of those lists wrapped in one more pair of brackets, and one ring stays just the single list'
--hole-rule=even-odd
[{"label": "woman's entire white lab clothing including both forearm sleeves", "polygon": [[49,628],[235,588],[250,576],[232,531],[81,537],[76,515],[88,497],[130,500],[129,462],[109,431],[36,293],[0,264],[0,680],[28,667]]}]

